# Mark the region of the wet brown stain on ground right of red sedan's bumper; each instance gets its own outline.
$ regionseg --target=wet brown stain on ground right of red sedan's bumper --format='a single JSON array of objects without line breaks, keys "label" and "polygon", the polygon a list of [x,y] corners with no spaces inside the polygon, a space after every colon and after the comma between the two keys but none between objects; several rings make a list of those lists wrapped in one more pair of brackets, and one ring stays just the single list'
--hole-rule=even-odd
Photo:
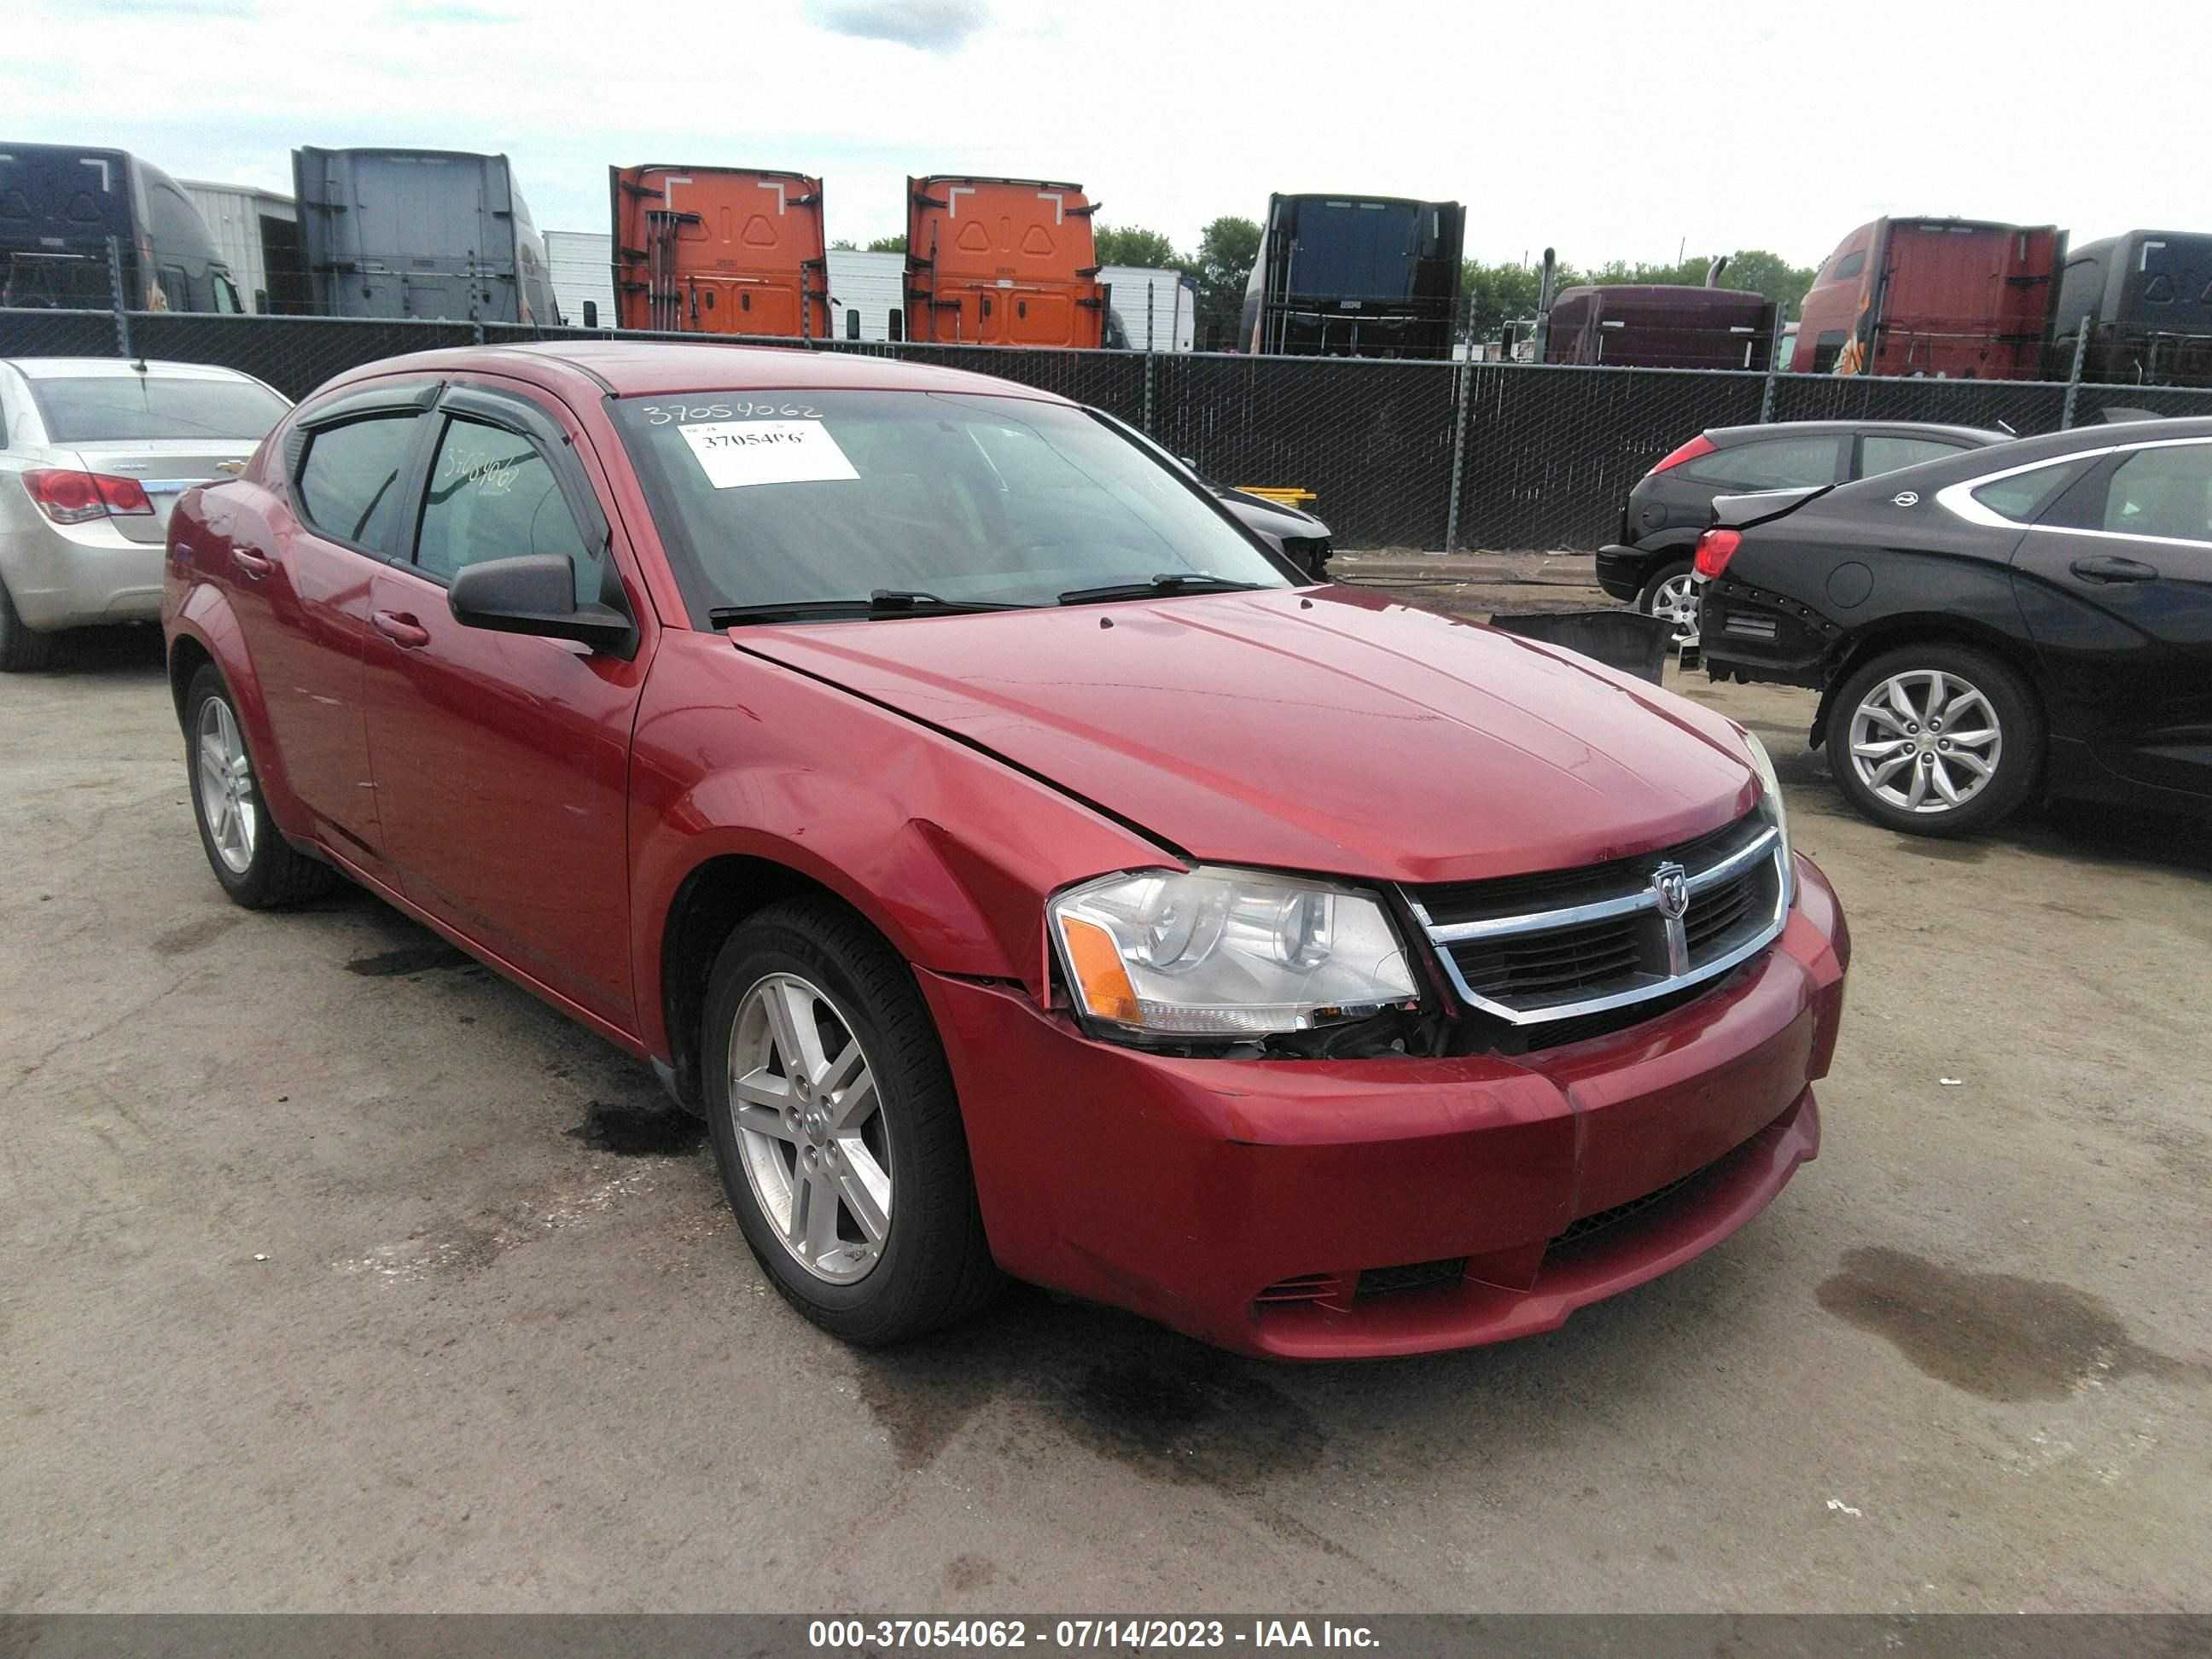
[{"label": "wet brown stain on ground right of red sedan's bumper", "polygon": [[1942,1267],[1867,1248],[1820,1285],[1820,1307],[1889,1338],[1927,1376],[1984,1400],[2064,1400],[2088,1380],[2212,1383],[2212,1365],[2157,1354],[2097,1296],[2048,1279]]}]

